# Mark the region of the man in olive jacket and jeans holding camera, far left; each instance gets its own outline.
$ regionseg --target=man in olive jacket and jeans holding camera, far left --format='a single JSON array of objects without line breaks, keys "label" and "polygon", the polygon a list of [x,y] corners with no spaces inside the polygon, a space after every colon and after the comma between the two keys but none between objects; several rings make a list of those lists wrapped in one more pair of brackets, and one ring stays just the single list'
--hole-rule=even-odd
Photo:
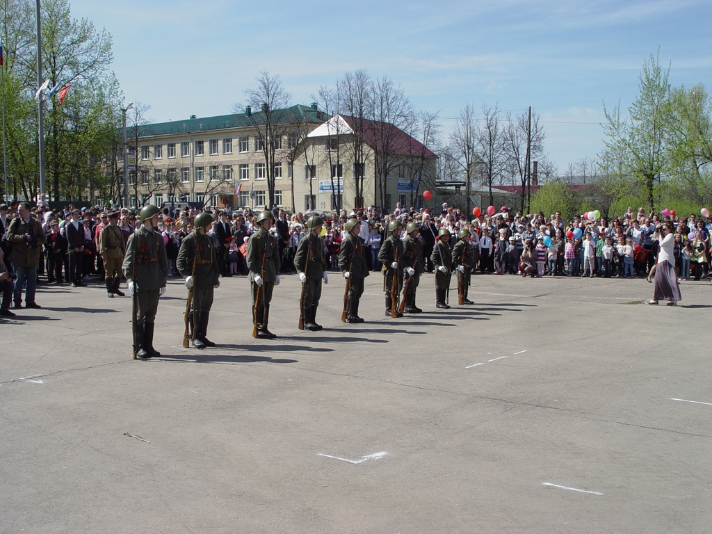
[{"label": "man in olive jacket and jeans holding camera, far left", "polygon": [[12,246],[8,259],[12,263],[17,277],[14,296],[15,308],[22,307],[22,287],[25,283],[27,286],[25,308],[41,308],[35,302],[35,291],[37,288],[37,266],[45,234],[40,221],[33,219],[30,205],[27,202],[20,202],[17,216],[12,219],[5,232],[5,239]]}]

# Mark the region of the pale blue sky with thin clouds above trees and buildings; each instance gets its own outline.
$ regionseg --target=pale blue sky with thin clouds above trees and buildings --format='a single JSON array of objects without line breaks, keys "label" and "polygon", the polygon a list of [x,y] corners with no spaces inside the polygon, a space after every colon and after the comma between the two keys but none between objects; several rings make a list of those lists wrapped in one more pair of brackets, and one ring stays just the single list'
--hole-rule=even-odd
[{"label": "pale blue sky with thin clouds above trees and buildings", "polygon": [[229,113],[261,70],[308,104],[366,68],[439,111],[445,132],[466,103],[531,105],[563,172],[602,150],[602,102],[627,108],[658,48],[672,85],[712,88],[709,0],[70,2],[112,34],[126,101],[156,121]]}]

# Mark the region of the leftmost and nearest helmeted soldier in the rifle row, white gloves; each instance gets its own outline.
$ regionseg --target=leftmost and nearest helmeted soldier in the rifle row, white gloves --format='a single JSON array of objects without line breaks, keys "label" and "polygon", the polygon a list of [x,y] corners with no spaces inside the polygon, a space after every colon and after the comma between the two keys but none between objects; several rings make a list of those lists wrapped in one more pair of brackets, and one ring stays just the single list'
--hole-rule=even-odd
[{"label": "leftmost and nearest helmeted soldier in the rifle row, white gloves", "polygon": [[140,228],[129,236],[123,270],[131,295],[138,300],[138,316],[135,320],[136,357],[160,356],[153,348],[158,299],[166,292],[168,263],[163,236],[156,230],[160,210],[148,205],[141,210]]}]

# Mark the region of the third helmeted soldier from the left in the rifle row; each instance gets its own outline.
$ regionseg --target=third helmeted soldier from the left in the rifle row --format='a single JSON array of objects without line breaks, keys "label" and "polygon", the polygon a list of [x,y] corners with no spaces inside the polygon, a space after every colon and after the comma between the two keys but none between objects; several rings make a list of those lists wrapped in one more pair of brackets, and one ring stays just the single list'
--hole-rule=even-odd
[{"label": "third helmeted soldier from the left in the rifle row", "polygon": [[246,258],[247,268],[250,270],[252,319],[257,328],[256,337],[268,340],[277,337],[267,329],[267,323],[272,292],[274,286],[279,286],[277,273],[281,268],[277,240],[269,233],[273,222],[274,217],[271,211],[262,211],[257,216],[259,229],[250,236],[250,240],[247,242]]}]

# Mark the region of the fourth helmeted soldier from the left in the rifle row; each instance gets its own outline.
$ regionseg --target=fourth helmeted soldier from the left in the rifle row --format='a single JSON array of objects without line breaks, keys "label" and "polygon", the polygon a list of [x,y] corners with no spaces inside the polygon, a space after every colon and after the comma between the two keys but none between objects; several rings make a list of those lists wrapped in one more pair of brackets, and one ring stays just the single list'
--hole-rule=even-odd
[{"label": "fourth helmeted soldier from the left in the rifle row", "polygon": [[304,300],[301,303],[304,315],[304,328],[307,330],[321,330],[316,323],[316,309],[321,298],[321,281],[329,283],[325,271],[326,258],[324,257],[324,241],[320,234],[324,221],[320,216],[313,215],[307,220],[309,233],[305,234],[297,245],[294,255],[294,267],[300,281],[304,286]]}]

